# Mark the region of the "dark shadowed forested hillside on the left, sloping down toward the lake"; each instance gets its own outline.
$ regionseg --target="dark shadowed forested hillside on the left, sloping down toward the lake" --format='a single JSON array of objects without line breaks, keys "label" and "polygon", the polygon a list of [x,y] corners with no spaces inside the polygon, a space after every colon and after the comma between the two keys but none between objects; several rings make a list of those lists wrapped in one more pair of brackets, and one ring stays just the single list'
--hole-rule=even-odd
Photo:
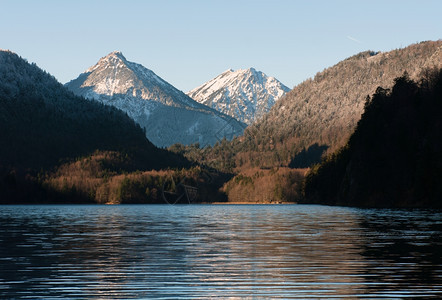
[{"label": "dark shadowed forested hillside on the left, sloping down toward the lake", "polygon": [[0,202],[16,192],[29,198],[28,179],[97,151],[127,158],[108,168],[117,172],[188,165],[151,144],[122,111],[75,96],[9,51],[0,51],[0,128]]}]

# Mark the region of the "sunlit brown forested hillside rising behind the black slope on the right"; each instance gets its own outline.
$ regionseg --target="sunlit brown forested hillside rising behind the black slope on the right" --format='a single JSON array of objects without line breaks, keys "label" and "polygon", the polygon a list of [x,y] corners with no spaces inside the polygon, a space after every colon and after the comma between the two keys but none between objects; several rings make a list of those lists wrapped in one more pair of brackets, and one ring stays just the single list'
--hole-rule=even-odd
[{"label": "sunlit brown forested hillside rising behind the black slope on the right", "polygon": [[[355,129],[367,95],[378,86],[391,87],[394,78],[405,71],[415,79],[424,68],[433,66],[442,66],[442,41],[384,53],[362,52],[319,72],[246,129],[244,135],[253,137],[246,147],[252,152],[250,159],[259,165],[286,165],[315,143],[328,146],[329,152],[337,149]],[[260,151],[254,155],[253,148]]]}]

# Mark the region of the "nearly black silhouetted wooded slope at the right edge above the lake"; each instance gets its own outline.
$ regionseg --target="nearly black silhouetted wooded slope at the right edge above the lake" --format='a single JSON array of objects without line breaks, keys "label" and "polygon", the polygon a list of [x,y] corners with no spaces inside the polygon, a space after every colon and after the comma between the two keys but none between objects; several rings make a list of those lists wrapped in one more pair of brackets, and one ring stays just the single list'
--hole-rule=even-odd
[{"label": "nearly black silhouetted wooded slope at the right edge above the lake", "polygon": [[308,203],[442,207],[442,69],[378,88],[347,145],[312,168]]}]

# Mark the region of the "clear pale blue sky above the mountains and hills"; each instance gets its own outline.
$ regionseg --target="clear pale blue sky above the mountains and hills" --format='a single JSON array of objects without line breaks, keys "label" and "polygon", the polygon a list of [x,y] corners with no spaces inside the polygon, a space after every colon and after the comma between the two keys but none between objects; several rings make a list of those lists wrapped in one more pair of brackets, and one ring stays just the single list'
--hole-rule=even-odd
[{"label": "clear pale blue sky above the mountains and hills", "polygon": [[364,50],[442,38],[442,1],[0,0],[0,48],[65,83],[120,50],[188,91],[228,68],[288,87]]}]

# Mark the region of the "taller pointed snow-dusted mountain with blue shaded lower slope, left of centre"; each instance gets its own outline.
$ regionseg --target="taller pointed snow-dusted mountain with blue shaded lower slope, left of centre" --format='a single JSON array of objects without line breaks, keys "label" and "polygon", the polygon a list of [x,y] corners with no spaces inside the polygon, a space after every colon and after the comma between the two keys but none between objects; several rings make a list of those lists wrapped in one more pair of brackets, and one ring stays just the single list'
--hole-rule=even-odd
[{"label": "taller pointed snow-dusted mountain with blue shaded lower slope, left of centre", "polygon": [[202,105],[151,70],[115,51],[66,84],[77,95],[125,111],[159,147],[213,145],[241,135],[245,125]]}]

